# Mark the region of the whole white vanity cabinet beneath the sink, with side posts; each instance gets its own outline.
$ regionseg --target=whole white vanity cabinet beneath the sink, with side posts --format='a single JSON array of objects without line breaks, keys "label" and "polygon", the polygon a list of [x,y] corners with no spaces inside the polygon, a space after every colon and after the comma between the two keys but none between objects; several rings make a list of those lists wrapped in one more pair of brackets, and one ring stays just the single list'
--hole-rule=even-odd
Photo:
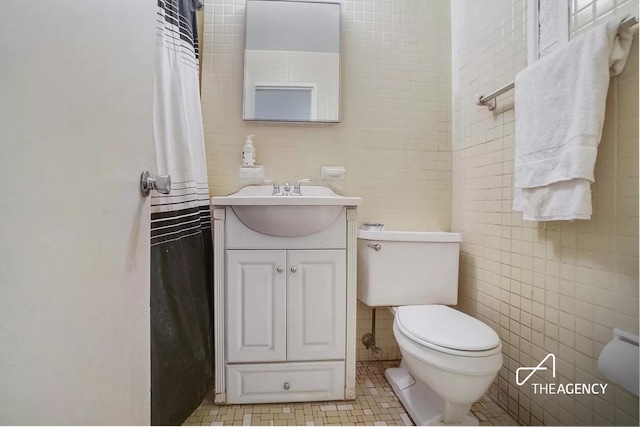
[{"label": "whole white vanity cabinet beneath the sink, with side posts", "polygon": [[355,206],[293,237],[213,217],[215,402],[354,399]]}]

